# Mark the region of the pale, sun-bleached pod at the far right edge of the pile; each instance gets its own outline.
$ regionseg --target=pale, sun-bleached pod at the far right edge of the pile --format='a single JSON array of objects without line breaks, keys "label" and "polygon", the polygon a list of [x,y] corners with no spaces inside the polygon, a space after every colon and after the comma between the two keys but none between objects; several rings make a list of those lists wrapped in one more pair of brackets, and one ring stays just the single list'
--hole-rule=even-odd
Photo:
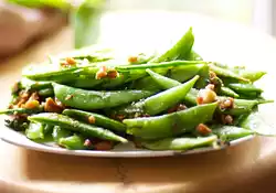
[{"label": "pale, sun-bleached pod at the far right edge of the pile", "polygon": [[242,122],[241,127],[259,136],[276,136],[276,128],[267,125],[259,112],[253,111]]}]

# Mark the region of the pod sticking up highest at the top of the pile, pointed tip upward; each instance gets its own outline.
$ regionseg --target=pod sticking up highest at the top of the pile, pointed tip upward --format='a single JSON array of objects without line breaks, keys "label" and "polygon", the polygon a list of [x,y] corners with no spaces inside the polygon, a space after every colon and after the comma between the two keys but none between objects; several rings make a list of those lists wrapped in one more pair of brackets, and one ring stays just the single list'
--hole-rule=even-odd
[{"label": "pod sticking up highest at the top of the pile, pointed tip upward", "polygon": [[150,63],[160,63],[166,61],[185,60],[189,57],[193,46],[194,36],[192,28],[169,50],[163,54],[152,58]]}]

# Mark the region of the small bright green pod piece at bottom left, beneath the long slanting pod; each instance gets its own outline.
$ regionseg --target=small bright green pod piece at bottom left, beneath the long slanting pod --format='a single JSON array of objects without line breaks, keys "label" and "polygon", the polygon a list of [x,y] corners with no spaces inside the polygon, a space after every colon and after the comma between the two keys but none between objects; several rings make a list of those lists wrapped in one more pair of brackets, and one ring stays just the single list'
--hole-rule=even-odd
[{"label": "small bright green pod piece at bottom left, beneath the long slanting pod", "polygon": [[85,150],[84,146],[85,138],[81,135],[74,133],[73,136],[61,138],[57,143],[68,150]]}]

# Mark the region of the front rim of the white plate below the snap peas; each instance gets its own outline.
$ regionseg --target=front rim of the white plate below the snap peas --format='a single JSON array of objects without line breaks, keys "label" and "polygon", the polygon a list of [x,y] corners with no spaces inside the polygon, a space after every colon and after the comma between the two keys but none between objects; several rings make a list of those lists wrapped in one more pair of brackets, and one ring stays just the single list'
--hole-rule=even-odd
[{"label": "front rim of the white plate below the snap peas", "polygon": [[[213,148],[213,147],[205,147],[205,148],[198,148],[193,150],[114,150],[114,151],[95,151],[95,150],[66,150],[59,147],[51,147],[43,143],[34,142],[30,139],[28,139],[23,133],[20,133],[19,131],[12,130],[11,128],[8,128],[7,126],[3,126],[6,131],[1,131],[2,135],[0,135],[0,139],[7,143],[24,148],[28,150],[34,150],[40,152],[47,152],[47,153],[55,153],[55,154],[66,154],[66,156],[76,156],[76,157],[95,157],[95,158],[157,158],[157,157],[177,157],[177,156],[188,156],[188,154],[201,154],[212,151],[221,151],[223,149],[227,149],[233,146],[241,144],[245,141],[253,140],[256,135],[250,135],[245,136],[243,138],[238,138],[236,140],[231,141],[226,146],[222,146],[220,148]],[[20,135],[20,138],[24,138],[26,142],[22,142],[22,140],[15,141],[7,138],[7,135],[3,135],[6,132],[13,132],[13,135]]]}]

